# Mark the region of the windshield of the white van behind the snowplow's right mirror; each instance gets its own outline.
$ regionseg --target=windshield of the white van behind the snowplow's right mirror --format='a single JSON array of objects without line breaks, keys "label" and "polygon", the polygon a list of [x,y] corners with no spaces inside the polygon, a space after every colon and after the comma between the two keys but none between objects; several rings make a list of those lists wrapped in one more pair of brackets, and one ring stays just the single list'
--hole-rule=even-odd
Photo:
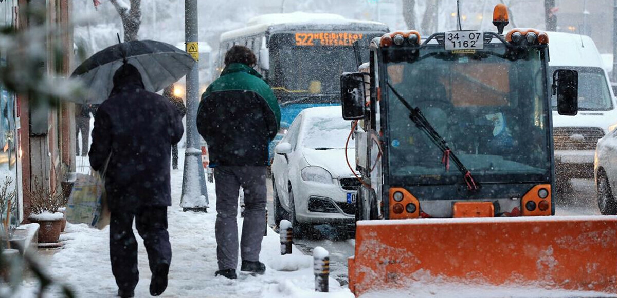
[{"label": "windshield of the white van behind the snowplow's right mirror", "polygon": [[[598,67],[560,67],[553,66],[551,73],[558,69],[572,69],[579,74],[579,110],[608,111],[613,108],[604,70]],[[553,110],[557,111],[557,95],[552,97]]]}]

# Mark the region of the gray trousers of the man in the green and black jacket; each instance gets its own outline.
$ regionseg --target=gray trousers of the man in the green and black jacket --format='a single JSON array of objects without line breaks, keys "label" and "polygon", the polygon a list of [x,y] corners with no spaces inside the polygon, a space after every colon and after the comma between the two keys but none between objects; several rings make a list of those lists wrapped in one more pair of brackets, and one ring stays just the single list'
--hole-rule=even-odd
[{"label": "gray trousers of the man in the green and black jacket", "polygon": [[218,269],[238,267],[238,195],[244,188],[244,223],[240,256],[242,260],[258,261],[266,228],[266,167],[217,166],[214,179],[217,187]]}]

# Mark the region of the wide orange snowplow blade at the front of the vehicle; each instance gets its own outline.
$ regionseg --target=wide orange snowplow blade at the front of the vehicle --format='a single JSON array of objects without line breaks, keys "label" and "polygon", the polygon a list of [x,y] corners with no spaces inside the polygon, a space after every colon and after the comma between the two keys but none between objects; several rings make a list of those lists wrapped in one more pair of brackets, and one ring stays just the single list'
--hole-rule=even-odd
[{"label": "wide orange snowplow blade at the front of the vehicle", "polygon": [[617,217],[363,220],[349,288],[456,282],[617,294]]}]

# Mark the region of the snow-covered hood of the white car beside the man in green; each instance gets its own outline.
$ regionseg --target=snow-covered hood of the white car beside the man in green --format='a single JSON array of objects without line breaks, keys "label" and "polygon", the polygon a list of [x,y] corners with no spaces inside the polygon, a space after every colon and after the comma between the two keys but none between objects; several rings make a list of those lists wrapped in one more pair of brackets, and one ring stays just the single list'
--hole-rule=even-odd
[{"label": "snow-covered hood of the white car beside the man in green", "polygon": [[[323,167],[332,174],[333,178],[347,178],[354,175],[345,161],[345,149],[315,150],[304,148],[302,155],[309,166]],[[355,148],[347,149],[347,157],[352,169],[355,169]]]}]

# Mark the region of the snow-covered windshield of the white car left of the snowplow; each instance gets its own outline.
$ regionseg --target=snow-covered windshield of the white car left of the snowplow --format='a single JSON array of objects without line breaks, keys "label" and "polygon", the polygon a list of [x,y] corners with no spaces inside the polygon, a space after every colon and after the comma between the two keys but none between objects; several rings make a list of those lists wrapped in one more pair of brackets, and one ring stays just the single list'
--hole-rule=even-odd
[{"label": "snow-covered windshield of the white car left of the snowplow", "polygon": [[[305,127],[304,147],[319,150],[344,149],[351,131],[351,123],[341,118],[341,110],[329,117],[309,118]],[[350,140],[347,148],[355,148],[355,140]]]}]

